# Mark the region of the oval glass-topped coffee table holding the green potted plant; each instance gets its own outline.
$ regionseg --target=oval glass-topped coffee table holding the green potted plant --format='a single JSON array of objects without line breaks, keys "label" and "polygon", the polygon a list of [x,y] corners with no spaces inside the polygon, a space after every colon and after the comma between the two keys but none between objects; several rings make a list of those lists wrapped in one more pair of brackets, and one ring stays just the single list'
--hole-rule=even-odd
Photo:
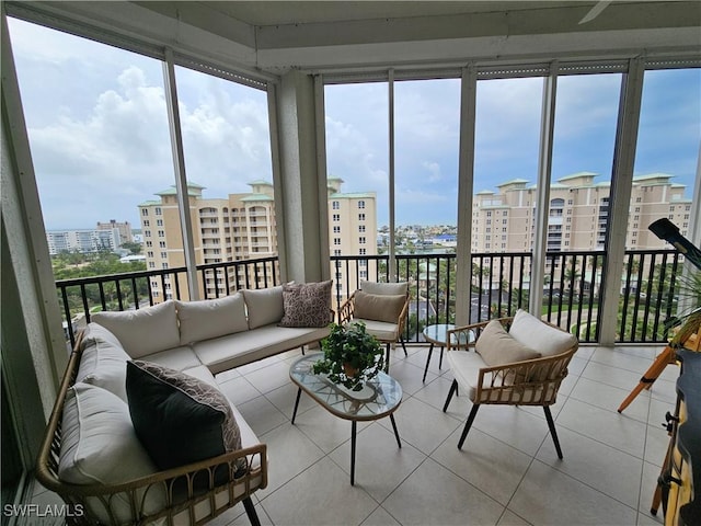
[{"label": "oval glass-topped coffee table holding the green potted plant", "polygon": [[389,416],[394,430],[397,445],[402,447],[394,422],[394,411],[402,403],[402,386],[386,373],[368,380],[360,391],[352,391],[329,380],[325,375],[314,375],[312,365],[323,357],[313,353],[297,359],[289,369],[289,377],[299,388],[292,424],[299,407],[299,398],[304,391],[312,400],[340,419],[350,421],[350,485],[355,484],[355,437],[358,422],[367,422]]}]

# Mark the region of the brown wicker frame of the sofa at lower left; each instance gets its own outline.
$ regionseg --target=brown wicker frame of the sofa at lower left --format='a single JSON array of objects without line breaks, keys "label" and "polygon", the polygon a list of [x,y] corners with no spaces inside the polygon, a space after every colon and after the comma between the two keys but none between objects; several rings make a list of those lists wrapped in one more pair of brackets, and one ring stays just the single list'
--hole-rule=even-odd
[{"label": "brown wicker frame of the sofa at lower left", "polygon": [[[76,382],[82,355],[81,340],[82,333],[79,334],[64,374],[36,465],[38,482],[56,492],[72,510],[66,517],[67,524],[100,524],[101,521],[91,508],[96,505],[111,518],[110,523],[125,524],[123,519],[117,519],[113,506],[115,499],[119,496],[128,502],[130,508],[130,519],[126,524],[199,525],[242,502],[251,524],[258,526],[260,521],[251,495],[256,490],[267,487],[265,444],[119,484],[71,484],[58,478],[64,403],[68,389]],[[240,459],[244,459],[244,469],[240,467]],[[227,477],[222,477],[225,472],[228,473]],[[154,491],[164,491],[165,506],[147,515],[146,495]]]}]

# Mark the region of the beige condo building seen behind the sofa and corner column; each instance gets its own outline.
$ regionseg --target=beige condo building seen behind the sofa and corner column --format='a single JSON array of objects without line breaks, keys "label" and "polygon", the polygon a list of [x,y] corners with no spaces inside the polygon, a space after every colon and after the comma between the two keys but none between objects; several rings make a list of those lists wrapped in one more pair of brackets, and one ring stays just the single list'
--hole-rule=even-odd
[{"label": "beige condo building seen behind the sofa and corner column", "polygon": [[[342,184],[341,179],[329,179],[330,253],[375,254],[375,194],[344,194],[341,192]],[[195,183],[187,186],[196,264],[212,265],[212,268],[205,268],[198,274],[203,298],[225,296],[240,288],[265,286],[266,277],[277,272],[277,262],[274,260],[258,265],[255,271],[249,265],[235,271],[217,267],[218,263],[277,255],[273,184],[253,181],[249,185],[251,192],[229,194],[226,198],[205,198],[204,186]],[[175,281],[168,272],[185,266],[175,186],[154,195],[159,198],[139,205],[147,268],[164,271],[162,276],[151,277],[151,294],[157,302],[174,297],[187,299],[185,275],[180,274]],[[344,270],[335,268],[332,263],[331,276],[336,284],[336,291],[345,295],[347,288],[354,290],[357,278],[367,277],[367,266],[365,262],[359,276],[355,273],[346,276]]]}]

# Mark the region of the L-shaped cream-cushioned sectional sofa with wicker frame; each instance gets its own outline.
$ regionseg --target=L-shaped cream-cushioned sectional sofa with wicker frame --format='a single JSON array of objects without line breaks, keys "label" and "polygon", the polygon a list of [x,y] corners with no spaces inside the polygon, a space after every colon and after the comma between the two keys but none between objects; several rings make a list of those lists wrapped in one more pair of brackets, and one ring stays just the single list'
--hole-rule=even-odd
[{"label": "L-shaped cream-cushioned sectional sofa with wicker frame", "polygon": [[327,322],[280,327],[304,323],[288,299],[280,286],[92,316],[37,461],[38,481],[72,506],[69,522],[202,524],[243,502],[260,524],[251,494],[267,484],[265,444],[215,375],[329,334]]}]

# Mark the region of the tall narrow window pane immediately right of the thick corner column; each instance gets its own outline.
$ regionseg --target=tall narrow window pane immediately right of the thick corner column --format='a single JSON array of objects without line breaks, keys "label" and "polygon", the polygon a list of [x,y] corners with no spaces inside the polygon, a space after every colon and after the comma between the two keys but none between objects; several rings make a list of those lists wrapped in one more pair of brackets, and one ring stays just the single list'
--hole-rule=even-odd
[{"label": "tall narrow window pane immediately right of the thick corner column", "polygon": [[[338,227],[332,255],[369,255],[363,268],[377,281],[378,253],[389,243],[389,98],[388,84],[326,85],[324,90],[330,228]],[[357,232],[365,229],[360,243]],[[353,293],[359,266],[332,258],[337,298]]]}]

